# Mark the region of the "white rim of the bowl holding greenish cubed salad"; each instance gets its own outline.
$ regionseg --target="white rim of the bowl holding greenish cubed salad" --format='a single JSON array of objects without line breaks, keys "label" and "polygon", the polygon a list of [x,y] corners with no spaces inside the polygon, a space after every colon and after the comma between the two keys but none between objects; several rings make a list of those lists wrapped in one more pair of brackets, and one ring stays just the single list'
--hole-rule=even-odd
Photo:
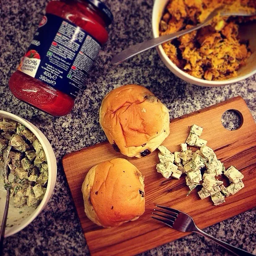
[{"label": "white rim of the bowl holding greenish cubed salad", "polygon": [[[46,191],[45,191],[45,194],[44,194],[44,198],[42,199],[42,201],[40,202],[38,207],[36,207],[34,212],[32,212],[31,215],[29,215],[25,219],[25,220],[27,220],[26,222],[23,221],[24,222],[23,224],[21,223],[21,225],[17,226],[16,229],[13,229],[11,232],[8,232],[7,234],[5,234],[5,237],[8,237],[10,235],[14,235],[14,234],[18,233],[23,228],[26,228],[26,226],[29,225],[39,215],[39,213],[42,211],[42,209],[46,206],[47,202],[49,201],[49,198],[52,195],[50,190],[54,189],[55,183],[56,183],[56,179],[57,179],[57,161],[56,161],[56,158],[54,158],[55,159],[54,163],[49,160],[50,159],[49,151],[48,151],[46,145],[44,144],[43,140],[41,139],[41,135],[33,127],[34,124],[31,124],[30,122],[28,122],[27,120],[23,119],[22,117],[16,116],[15,114],[12,114],[12,113],[7,112],[7,111],[0,110],[0,115],[1,114],[9,116],[10,119],[14,119],[14,120],[18,119],[19,121],[17,121],[17,122],[20,122],[21,124],[24,124],[34,135],[36,135],[36,138],[39,140],[39,142],[41,143],[41,145],[42,145],[42,147],[44,149],[44,152],[45,152],[45,155],[46,155],[46,159],[47,159],[47,164],[48,164],[48,183],[47,183],[47,188],[46,188]],[[53,150],[52,150],[52,152],[53,152]],[[55,157],[55,155],[54,155],[54,157]],[[52,171],[49,171],[49,170],[56,170],[55,171],[56,175],[53,176],[52,175]],[[52,182],[54,182],[54,184],[52,184]],[[52,185],[53,185],[53,189],[51,189]]]}]

